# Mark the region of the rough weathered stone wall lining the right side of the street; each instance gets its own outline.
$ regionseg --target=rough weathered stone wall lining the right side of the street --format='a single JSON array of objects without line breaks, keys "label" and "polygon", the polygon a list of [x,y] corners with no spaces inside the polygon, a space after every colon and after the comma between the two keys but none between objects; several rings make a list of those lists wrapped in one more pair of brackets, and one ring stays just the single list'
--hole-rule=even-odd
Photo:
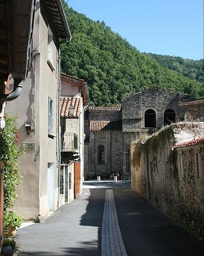
[{"label": "rough weathered stone wall lining the right side of the street", "polygon": [[[183,123],[180,131],[182,127]],[[178,129],[179,123],[166,126],[145,143],[131,144],[132,187],[174,220],[203,236],[203,144],[172,150],[175,141],[182,141]],[[203,133],[202,125],[194,123],[190,136],[193,129],[196,135],[198,129]]]}]

